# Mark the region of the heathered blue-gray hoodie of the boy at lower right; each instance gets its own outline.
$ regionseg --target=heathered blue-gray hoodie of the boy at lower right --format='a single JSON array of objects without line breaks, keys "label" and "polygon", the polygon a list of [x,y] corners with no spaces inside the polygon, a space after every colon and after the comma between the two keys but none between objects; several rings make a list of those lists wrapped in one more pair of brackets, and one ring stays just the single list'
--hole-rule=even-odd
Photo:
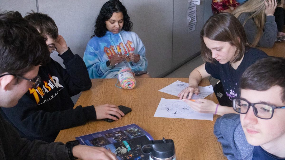
[{"label": "heathered blue-gray hoodie of the boy at lower right", "polygon": [[217,118],[214,134],[221,142],[227,159],[252,160],[254,146],[247,142],[239,114],[225,114]]}]

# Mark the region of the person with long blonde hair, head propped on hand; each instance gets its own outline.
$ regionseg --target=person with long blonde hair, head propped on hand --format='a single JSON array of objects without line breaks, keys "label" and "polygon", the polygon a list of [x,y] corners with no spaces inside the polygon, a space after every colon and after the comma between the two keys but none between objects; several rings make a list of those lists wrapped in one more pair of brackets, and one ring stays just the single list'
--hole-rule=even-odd
[{"label": "person with long blonde hair, head propped on hand", "polygon": [[245,28],[247,40],[251,47],[272,48],[276,37],[284,34],[278,32],[273,16],[276,6],[280,5],[280,1],[249,0],[233,12],[233,15],[239,19]]}]

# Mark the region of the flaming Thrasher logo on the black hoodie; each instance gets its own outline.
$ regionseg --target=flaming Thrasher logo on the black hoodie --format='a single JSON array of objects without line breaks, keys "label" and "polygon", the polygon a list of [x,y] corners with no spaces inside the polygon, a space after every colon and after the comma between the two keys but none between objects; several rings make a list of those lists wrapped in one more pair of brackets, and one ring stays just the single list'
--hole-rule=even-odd
[{"label": "flaming Thrasher logo on the black hoodie", "polygon": [[61,87],[63,88],[63,86],[59,83],[58,77],[51,76],[50,74],[48,74],[48,77],[50,78],[50,80],[48,81],[43,80],[44,84],[42,86],[38,86],[36,89],[29,88],[29,92],[34,96],[37,104],[39,104],[41,99],[44,99],[44,101],[42,102],[44,103],[55,97],[58,91],[57,93],[55,93],[55,95],[52,95],[52,97],[44,97],[44,95],[46,95],[46,93],[50,92],[52,89],[61,88]]}]

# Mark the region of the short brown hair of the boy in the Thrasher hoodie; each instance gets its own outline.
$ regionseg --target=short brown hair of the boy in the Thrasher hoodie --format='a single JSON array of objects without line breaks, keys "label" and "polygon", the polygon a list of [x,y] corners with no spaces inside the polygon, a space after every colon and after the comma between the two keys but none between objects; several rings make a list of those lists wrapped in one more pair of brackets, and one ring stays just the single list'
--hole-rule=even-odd
[{"label": "short brown hair of the boy in the Thrasher hoodie", "polygon": [[52,18],[50,18],[47,14],[44,13],[27,13],[24,17],[28,22],[34,26],[41,35],[48,35],[53,39],[58,37],[58,28]]}]

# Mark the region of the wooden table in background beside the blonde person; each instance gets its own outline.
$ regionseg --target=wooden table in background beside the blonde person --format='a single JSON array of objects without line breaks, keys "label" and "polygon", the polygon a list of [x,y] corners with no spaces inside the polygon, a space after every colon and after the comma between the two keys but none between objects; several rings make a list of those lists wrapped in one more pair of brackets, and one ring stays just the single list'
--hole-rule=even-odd
[{"label": "wooden table in background beside the blonde person", "polygon": [[258,47],[256,48],[264,51],[269,56],[275,56],[275,57],[283,57],[285,58],[285,41],[275,42],[273,48],[263,48]]}]

